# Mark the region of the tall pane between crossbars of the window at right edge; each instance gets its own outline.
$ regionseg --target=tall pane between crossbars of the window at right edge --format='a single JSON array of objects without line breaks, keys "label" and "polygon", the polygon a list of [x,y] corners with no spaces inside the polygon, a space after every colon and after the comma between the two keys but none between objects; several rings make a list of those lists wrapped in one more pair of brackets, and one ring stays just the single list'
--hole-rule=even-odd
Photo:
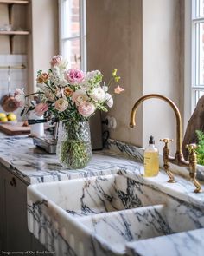
[{"label": "tall pane between crossbars of the window at right edge", "polygon": [[204,85],[204,23],[196,24],[196,85]]}]

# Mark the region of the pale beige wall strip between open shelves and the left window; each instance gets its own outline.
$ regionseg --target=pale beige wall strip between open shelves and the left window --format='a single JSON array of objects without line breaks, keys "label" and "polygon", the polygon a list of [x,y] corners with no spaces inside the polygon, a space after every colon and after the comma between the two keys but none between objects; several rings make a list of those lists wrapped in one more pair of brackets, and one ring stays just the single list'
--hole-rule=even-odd
[{"label": "pale beige wall strip between open shelves and the left window", "polygon": [[37,71],[42,69],[47,72],[51,57],[59,53],[58,0],[33,0],[31,4],[29,59],[32,76],[29,77],[29,91],[35,90]]}]

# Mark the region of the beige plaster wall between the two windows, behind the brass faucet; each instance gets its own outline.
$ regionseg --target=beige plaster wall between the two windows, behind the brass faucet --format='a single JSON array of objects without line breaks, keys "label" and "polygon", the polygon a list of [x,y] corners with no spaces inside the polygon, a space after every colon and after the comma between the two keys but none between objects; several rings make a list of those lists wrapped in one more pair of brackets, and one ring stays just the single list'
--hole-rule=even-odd
[{"label": "beige plaster wall between the two windows, behind the brass faucet", "polygon": [[109,113],[118,121],[112,138],[145,147],[154,135],[159,148],[160,138],[175,139],[175,116],[166,102],[144,102],[137,128],[129,128],[129,116],[134,102],[150,93],[166,95],[182,109],[182,2],[87,1],[88,69],[107,77],[117,68],[125,89]]}]

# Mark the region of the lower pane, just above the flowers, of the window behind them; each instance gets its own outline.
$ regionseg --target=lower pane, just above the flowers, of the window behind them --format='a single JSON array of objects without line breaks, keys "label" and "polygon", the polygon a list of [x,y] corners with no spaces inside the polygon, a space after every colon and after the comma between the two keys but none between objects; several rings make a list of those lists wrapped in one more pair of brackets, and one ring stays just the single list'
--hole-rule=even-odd
[{"label": "lower pane, just above the flowers, of the window behind them", "polygon": [[80,38],[64,41],[63,53],[69,68],[80,69]]}]

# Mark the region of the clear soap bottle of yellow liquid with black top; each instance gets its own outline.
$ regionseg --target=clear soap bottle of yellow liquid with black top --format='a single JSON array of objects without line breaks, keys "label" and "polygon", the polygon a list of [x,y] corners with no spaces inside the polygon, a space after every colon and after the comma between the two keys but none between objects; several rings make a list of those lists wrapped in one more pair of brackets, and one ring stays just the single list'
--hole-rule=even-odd
[{"label": "clear soap bottle of yellow liquid with black top", "polygon": [[154,137],[150,136],[149,146],[144,150],[144,177],[154,177],[159,173],[159,151]]}]

